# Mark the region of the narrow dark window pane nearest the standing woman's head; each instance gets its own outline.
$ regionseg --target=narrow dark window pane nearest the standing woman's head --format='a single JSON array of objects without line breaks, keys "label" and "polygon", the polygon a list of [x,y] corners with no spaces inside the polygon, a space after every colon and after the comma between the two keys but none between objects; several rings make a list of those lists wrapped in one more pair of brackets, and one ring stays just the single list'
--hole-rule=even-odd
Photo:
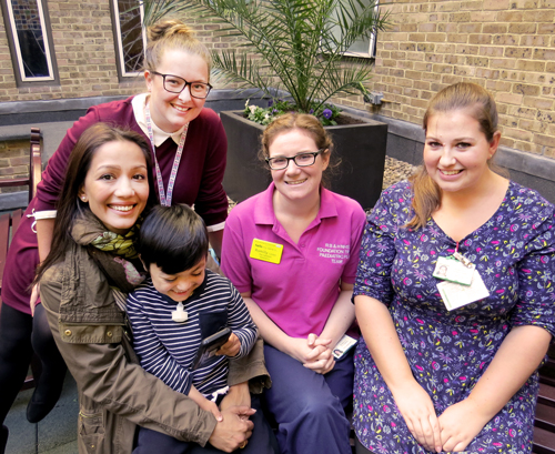
[{"label": "narrow dark window pane nearest the standing woman's head", "polygon": [[118,0],[123,74],[135,73],[142,69],[143,36],[141,9],[138,7],[138,0]]}]

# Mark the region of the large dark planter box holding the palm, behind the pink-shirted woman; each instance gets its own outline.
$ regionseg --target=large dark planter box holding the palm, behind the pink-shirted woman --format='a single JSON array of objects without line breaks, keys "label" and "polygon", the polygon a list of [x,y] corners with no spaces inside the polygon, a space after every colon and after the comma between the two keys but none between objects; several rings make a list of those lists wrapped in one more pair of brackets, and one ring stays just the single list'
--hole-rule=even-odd
[{"label": "large dark planter box holding the palm, behind the pink-shirted woman", "polygon": [[[344,113],[345,114],[345,113]],[[264,127],[243,118],[242,111],[221,112],[228,134],[228,167],[223,186],[235,202],[268,188],[270,170],[258,159]],[[331,189],[372,208],[382,191],[387,142],[387,124],[363,117],[349,115],[355,124],[326,127],[341,164],[331,180]]]}]

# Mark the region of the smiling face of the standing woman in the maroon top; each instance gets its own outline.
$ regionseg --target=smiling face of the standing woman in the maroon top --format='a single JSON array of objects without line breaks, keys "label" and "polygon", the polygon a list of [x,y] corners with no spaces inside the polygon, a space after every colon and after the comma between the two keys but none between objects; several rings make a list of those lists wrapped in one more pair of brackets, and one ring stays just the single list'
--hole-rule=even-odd
[{"label": "smiling face of the standing woman in the maroon top", "polygon": [[[209,83],[209,69],[204,59],[181,50],[165,51],[157,72],[178,75],[188,82]],[[192,98],[190,85],[181,93],[170,93],[164,89],[162,75],[145,71],[144,78],[150,91],[149,105],[152,121],[162,131],[179,131],[185,123],[199,117],[206,100]]]}]

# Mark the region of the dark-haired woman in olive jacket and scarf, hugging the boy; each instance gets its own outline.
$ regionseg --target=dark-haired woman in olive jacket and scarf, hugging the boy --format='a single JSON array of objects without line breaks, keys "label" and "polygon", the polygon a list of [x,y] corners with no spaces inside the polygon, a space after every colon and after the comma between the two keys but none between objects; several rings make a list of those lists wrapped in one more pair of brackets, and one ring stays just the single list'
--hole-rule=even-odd
[{"label": "dark-haired woman in olive jacket and scarf, hugging the boy", "polygon": [[79,452],[131,453],[137,425],[195,442],[199,452],[212,452],[202,447],[208,442],[231,452],[251,435],[254,410],[243,382],[268,380],[263,359],[230,362],[232,387],[216,422],[144,372],[132,350],[124,296],[143,279],[132,240],[153,202],[148,169],[149,145],[138,134],[103,123],[85,131],[71,154],[51,252],[38,270],[50,327],[78,383]]}]

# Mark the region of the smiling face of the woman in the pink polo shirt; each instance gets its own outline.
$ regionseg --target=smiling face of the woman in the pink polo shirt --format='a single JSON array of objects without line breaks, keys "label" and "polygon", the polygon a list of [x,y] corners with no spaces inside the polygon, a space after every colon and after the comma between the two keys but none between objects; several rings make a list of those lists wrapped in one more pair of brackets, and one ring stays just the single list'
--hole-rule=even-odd
[{"label": "smiling face of the woman in the pink polo shirt", "polygon": [[[319,150],[310,133],[293,129],[278,135],[269,147],[269,158],[293,158]],[[322,173],[330,162],[330,153],[319,154],[314,164],[300,168],[293,161],[283,170],[272,170],[275,189],[281,196],[294,200],[310,200],[320,196]]]}]

